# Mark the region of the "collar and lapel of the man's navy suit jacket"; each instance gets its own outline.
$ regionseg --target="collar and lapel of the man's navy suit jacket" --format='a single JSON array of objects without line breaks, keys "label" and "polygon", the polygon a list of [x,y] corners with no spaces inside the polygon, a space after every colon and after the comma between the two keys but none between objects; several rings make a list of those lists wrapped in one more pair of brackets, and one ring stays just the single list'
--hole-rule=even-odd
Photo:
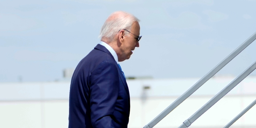
[{"label": "collar and lapel of the man's navy suit jacket", "polygon": [[[102,46],[102,45],[100,45],[100,44],[97,44],[94,48],[95,48],[95,49],[98,49],[98,50],[100,50],[100,51],[103,51],[103,52],[105,52],[105,53],[108,53],[108,54],[112,57],[112,59],[115,60],[115,58],[112,56],[112,54],[109,52],[109,50],[106,49],[106,47],[104,47],[104,46]],[[130,101],[129,88],[128,88],[128,85],[127,85],[127,83],[126,83],[125,76],[123,75],[123,72],[122,72],[121,69],[119,68],[118,64],[117,64],[117,63],[115,63],[115,64],[116,64],[116,67],[117,67],[117,70],[118,70],[119,77],[121,78],[122,83],[123,83],[123,85],[125,86],[125,90],[126,90],[126,93],[127,93],[128,96],[129,96],[129,101]]]}]

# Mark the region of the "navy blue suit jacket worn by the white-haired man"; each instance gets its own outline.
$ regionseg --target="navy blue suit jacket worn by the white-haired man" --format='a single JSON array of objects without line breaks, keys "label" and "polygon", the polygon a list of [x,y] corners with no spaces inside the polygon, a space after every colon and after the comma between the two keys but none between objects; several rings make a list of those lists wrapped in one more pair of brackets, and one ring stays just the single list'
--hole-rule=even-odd
[{"label": "navy blue suit jacket worn by the white-haired man", "polygon": [[108,49],[98,44],[73,73],[69,128],[127,128],[129,114],[126,79]]}]

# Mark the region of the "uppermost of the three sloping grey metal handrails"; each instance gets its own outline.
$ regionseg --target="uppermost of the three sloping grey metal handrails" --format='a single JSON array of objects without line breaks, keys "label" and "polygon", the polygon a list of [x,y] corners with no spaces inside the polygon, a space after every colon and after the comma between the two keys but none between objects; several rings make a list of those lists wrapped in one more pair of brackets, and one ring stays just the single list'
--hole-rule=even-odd
[{"label": "uppermost of the three sloping grey metal handrails", "polygon": [[221,70],[225,65],[227,65],[227,63],[229,63],[234,57],[236,57],[240,52],[242,52],[243,49],[250,45],[255,39],[256,32],[143,128],[153,128],[158,122],[160,122],[160,120],[162,120],[172,110],[174,110],[178,105],[180,105],[184,100],[186,100],[199,87],[201,87],[205,82],[207,82],[213,75],[215,75],[219,70]]}]

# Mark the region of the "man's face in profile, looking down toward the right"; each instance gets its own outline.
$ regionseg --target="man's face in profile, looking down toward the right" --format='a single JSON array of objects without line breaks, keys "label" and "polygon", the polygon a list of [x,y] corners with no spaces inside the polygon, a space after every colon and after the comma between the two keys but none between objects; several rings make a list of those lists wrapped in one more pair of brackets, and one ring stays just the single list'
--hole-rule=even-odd
[{"label": "man's face in profile, looking down toward the right", "polygon": [[[122,51],[122,58],[129,59],[131,57],[132,51],[135,49],[135,47],[139,47],[139,42],[137,43],[137,38],[135,35],[140,35],[140,25],[138,22],[134,22],[131,26],[131,33],[128,33],[123,42],[123,46],[121,47]],[[133,35],[133,34],[134,35]]]}]

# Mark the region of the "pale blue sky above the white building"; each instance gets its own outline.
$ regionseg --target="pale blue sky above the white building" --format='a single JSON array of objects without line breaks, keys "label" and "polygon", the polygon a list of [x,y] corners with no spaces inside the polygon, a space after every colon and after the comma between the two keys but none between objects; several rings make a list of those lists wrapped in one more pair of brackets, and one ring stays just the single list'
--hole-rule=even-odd
[{"label": "pale blue sky above the white building", "polygon": [[[126,76],[202,77],[256,32],[255,0],[1,0],[0,82],[62,80],[99,42],[114,11],[141,22]],[[256,42],[218,74],[256,61]],[[256,75],[253,72],[252,75]]]}]

